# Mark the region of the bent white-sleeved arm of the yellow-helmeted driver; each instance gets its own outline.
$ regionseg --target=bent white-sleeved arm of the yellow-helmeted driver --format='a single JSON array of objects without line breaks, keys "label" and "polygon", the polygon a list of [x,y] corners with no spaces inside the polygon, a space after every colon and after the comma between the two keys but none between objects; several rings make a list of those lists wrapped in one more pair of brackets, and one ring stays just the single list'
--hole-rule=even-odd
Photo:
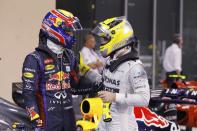
[{"label": "bent white-sleeved arm of the yellow-helmeted driver", "polygon": [[116,102],[131,106],[148,106],[150,100],[150,89],[146,72],[142,65],[135,65],[128,72],[130,88],[134,91],[129,93],[116,93]]}]

